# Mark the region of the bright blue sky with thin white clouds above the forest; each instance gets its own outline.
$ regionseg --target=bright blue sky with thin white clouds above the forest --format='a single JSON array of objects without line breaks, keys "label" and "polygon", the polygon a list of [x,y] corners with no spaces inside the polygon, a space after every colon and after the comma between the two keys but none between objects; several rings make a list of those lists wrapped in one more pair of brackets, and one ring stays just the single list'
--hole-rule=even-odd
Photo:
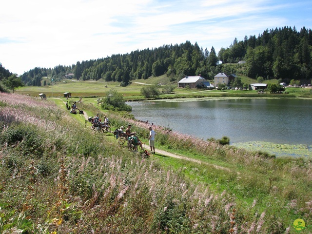
[{"label": "bright blue sky with thin white clouds above the forest", "polygon": [[216,53],[266,29],[312,28],[311,0],[0,0],[0,63],[35,67],[197,42]]}]

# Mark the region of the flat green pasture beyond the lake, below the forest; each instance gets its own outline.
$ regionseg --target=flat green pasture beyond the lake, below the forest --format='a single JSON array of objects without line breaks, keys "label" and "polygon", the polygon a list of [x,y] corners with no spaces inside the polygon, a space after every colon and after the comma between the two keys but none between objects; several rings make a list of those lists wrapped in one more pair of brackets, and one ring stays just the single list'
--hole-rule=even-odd
[{"label": "flat green pasture beyond the lake, below the forest", "polygon": [[[16,93],[30,95],[32,97],[39,97],[40,93],[43,93],[47,98],[52,97],[64,97],[63,93],[70,92],[72,98],[102,98],[106,96],[106,93],[114,89],[118,93],[122,94],[125,100],[143,100],[144,97],[140,94],[140,90],[145,85],[154,84],[166,84],[176,85],[170,83],[165,75],[149,78],[149,79],[137,79],[133,80],[132,83],[126,87],[120,86],[118,82],[103,82],[103,81],[77,81],[77,80],[63,80],[53,85],[45,86],[25,86],[16,89]],[[245,80],[245,79],[244,79]],[[246,82],[251,82],[250,78],[246,78]],[[244,81],[245,82],[245,81]],[[272,82],[276,82],[272,81]],[[143,84],[142,84],[143,83]],[[159,85],[159,92],[162,91],[162,85]],[[263,97],[263,98],[296,98],[312,97],[312,88],[299,88],[299,87],[287,87],[286,92],[289,94],[257,94],[254,90],[201,90],[201,89],[185,89],[177,88],[174,94],[160,95],[159,99],[164,98],[204,98],[204,97]],[[94,100],[94,99],[92,99]]]}]

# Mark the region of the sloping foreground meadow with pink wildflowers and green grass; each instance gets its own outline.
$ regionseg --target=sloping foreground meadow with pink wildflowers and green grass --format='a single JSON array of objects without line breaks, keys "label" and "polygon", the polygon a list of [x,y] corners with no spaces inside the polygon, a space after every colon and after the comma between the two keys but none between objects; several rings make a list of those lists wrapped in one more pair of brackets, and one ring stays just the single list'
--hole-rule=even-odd
[{"label": "sloping foreground meadow with pink wildflowers and green grass", "polygon": [[[0,93],[0,233],[284,234],[296,233],[298,218],[311,225],[311,158],[275,158],[161,126],[156,152],[199,162],[142,158],[69,114],[64,100]],[[107,115],[112,129],[130,123],[147,142],[145,123],[83,100],[88,116]]]}]

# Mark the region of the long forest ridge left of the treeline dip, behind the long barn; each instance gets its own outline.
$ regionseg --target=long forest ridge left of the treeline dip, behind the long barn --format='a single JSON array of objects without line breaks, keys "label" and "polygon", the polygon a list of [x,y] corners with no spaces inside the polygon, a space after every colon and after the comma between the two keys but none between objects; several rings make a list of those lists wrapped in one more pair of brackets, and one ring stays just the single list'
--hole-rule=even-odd
[{"label": "long forest ridge left of the treeline dip, behind the long barn", "polygon": [[[117,81],[128,85],[134,79],[147,79],[165,73],[176,80],[185,75],[201,74],[213,78],[217,71],[218,58],[214,47],[211,52],[192,45],[189,41],[176,45],[163,45],[154,49],[132,51],[130,54],[112,55],[102,59],[77,62],[71,66],[55,68],[34,68],[21,75],[25,85],[41,86],[42,77],[51,77],[59,81],[66,74],[75,74],[76,79]],[[48,83],[49,84],[49,83]]]}]

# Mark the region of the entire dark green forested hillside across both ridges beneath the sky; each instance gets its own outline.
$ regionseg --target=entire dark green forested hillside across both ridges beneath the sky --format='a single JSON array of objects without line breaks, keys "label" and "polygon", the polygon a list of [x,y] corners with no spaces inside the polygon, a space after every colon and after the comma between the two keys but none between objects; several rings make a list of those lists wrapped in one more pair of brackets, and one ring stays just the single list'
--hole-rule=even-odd
[{"label": "entire dark green forested hillside across both ridges beneath the sky", "polygon": [[[250,78],[280,79],[289,82],[300,80],[302,84],[311,83],[312,75],[312,30],[295,27],[265,30],[258,37],[245,36],[243,40],[234,39],[227,48],[216,54],[214,47],[203,50],[197,43],[163,45],[158,48],[132,51],[124,55],[112,55],[102,59],[78,61],[71,66],[58,65],[54,68],[34,68],[21,76],[25,85],[41,85],[42,77],[55,81],[66,74],[73,73],[76,79],[118,81],[128,85],[134,79],[147,79],[163,74],[171,81],[184,76],[201,74],[213,79],[219,72],[235,73]],[[222,63],[219,64],[219,60]],[[231,66],[224,64],[246,61],[245,64]],[[241,69],[244,66],[244,69]]]}]

